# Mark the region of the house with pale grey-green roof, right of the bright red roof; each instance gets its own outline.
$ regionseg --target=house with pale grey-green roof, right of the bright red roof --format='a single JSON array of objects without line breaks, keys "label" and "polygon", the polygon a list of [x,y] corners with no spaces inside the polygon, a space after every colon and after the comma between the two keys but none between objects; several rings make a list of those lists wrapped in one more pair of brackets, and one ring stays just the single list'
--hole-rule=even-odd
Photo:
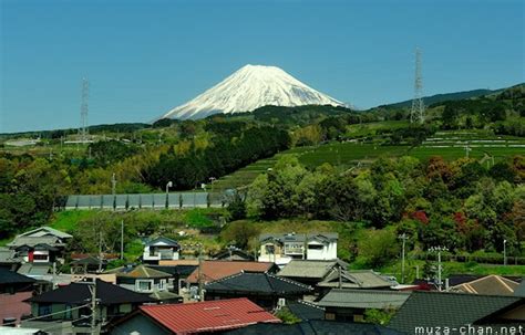
[{"label": "house with pale grey-green roof, right of the bright red roof", "polygon": [[410,294],[384,290],[332,289],[318,305],[325,307],[326,320],[362,322],[367,310],[398,310]]}]

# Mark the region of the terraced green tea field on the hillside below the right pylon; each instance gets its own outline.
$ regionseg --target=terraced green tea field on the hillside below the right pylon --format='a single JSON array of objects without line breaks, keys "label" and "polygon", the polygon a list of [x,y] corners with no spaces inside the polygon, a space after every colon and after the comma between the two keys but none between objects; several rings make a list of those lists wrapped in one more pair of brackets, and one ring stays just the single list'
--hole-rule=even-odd
[{"label": "terraced green tea field on the hillside below the right pylon", "polygon": [[421,146],[382,146],[360,142],[329,143],[319,146],[298,147],[282,151],[271,158],[258,160],[245,168],[225,176],[214,182],[214,190],[226,190],[249,185],[261,172],[271,168],[280,156],[295,154],[299,161],[310,168],[325,163],[333,166],[368,165],[379,157],[400,157],[404,155],[419,159],[442,156],[445,160],[461,157],[478,159],[492,164],[514,155],[525,155],[525,138],[496,136],[486,132],[439,132],[426,138]]}]

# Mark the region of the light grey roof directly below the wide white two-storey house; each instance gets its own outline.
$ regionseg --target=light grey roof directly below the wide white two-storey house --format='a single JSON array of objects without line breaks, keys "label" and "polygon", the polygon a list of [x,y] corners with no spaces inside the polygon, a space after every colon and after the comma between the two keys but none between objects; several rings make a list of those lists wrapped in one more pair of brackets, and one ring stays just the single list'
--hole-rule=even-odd
[{"label": "light grey roof directly below the wide white two-storey house", "polygon": [[338,266],[347,269],[348,264],[340,260],[291,260],[281,271],[279,271],[278,275],[287,278],[310,278],[322,280]]}]

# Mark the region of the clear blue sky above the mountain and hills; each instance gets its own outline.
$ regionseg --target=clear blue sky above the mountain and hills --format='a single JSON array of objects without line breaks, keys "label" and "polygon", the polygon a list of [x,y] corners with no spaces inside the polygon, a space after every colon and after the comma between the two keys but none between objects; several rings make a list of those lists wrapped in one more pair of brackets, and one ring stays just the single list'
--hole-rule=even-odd
[{"label": "clear blue sky above the mountain and hills", "polygon": [[148,122],[238,67],[359,107],[524,81],[524,2],[0,0],[0,133]]}]

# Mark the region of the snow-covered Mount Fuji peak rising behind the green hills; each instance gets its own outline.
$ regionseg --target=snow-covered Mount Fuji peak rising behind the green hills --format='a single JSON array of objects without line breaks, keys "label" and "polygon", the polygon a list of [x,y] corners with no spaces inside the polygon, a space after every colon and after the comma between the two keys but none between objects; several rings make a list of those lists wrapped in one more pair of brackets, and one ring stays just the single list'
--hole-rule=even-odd
[{"label": "snow-covered Mount Fuji peak rising behind the green hills", "polygon": [[248,64],[161,118],[198,119],[213,114],[251,112],[266,105],[344,106],[343,103],[311,88],[279,67]]}]

